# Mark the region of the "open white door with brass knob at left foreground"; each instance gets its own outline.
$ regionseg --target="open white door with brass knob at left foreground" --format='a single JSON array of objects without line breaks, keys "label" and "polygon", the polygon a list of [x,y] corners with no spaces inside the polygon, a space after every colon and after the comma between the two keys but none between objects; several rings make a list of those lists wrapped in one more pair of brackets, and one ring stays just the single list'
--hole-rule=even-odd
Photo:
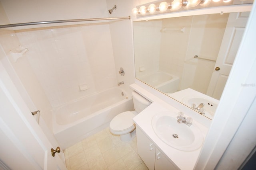
[{"label": "open white door with brass knob at left foreground", "polygon": [[[66,170],[0,62],[0,167]],[[54,148],[56,149],[56,148]]]}]

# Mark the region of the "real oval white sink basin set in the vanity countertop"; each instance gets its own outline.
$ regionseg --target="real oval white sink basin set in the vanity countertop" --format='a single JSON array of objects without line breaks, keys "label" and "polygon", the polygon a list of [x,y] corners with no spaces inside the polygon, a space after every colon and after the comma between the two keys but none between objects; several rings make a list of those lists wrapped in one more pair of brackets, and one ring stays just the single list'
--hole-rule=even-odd
[{"label": "real oval white sink basin set in the vanity countertop", "polygon": [[192,151],[202,146],[204,137],[196,125],[190,127],[177,122],[176,114],[170,111],[157,113],[152,118],[156,135],[167,145],[178,150]]}]

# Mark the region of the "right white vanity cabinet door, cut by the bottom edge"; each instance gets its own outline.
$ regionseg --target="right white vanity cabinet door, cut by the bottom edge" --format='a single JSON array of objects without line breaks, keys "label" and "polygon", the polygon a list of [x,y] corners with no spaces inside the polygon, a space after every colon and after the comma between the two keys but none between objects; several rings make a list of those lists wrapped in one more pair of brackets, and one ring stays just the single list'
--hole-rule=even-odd
[{"label": "right white vanity cabinet door, cut by the bottom edge", "polygon": [[158,148],[156,148],[155,170],[178,170]]}]

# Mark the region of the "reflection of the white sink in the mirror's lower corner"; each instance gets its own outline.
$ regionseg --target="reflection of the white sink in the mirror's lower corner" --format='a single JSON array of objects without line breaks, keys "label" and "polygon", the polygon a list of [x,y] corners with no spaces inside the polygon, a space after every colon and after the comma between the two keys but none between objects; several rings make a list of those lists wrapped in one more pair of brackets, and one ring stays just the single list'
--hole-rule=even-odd
[{"label": "reflection of the white sink in the mirror's lower corner", "polygon": [[214,113],[216,111],[216,108],[218,106],[218,104],[206,99],[206,98],[201,98],[198,96],[186,96],[182,99],[182,103],[184,103],[185,105],[191,107],[192,104],[195,104],[196,107],[199,106],[201,103],[204,104],[204,109],[205,109],[205,116],[209,117],[210,119],[212,119],[214,117]]}]

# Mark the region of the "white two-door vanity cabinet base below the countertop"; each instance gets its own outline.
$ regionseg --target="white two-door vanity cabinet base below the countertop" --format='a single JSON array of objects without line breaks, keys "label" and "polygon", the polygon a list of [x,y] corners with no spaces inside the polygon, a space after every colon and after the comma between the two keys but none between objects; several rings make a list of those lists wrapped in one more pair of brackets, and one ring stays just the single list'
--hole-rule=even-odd
[{"label": "white two-door vanity cabinet base below the countertop", "polygon": [[138,126],[136,127],[137,150],[149,170],[178,170]]}]

